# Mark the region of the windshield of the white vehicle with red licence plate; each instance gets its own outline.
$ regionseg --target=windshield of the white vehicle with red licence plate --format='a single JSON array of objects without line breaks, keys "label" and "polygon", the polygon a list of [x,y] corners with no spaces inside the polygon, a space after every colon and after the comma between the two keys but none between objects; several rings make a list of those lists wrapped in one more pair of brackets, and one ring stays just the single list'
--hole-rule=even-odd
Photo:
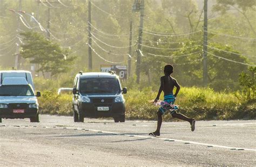
[{"label": "windshield of the white vehicle with red licence plate", "polygon": [[35,96],[29,85],[2,85],[0,96]]}]

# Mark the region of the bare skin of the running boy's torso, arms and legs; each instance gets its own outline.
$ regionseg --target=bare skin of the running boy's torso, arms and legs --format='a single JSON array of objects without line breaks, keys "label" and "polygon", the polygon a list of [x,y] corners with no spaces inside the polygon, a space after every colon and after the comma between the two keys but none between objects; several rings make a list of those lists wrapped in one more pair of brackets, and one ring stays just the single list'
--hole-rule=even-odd
[{"label": "bare skin of the running boy's torso, arms and legs", "polygon": [[[173,71],[171,71],[171,74],[173,73]],[[176,81],[176,79],[172,78],[169,74],[167,74],[166,71],[164,71],[164,76],[162,76],[160,78],[161,84],[160,84],[160,88],[157,94],[157,98],[154,100],[154,103],[157,102],[157,100],[159,100],[160,94],[162,91],[164,91],[164,96],[166,95],[173,95],[173,89],[174,86],[176,86],[176,92],[174,94],[174,97],[177,97],[179,90],[180,90],[180,86],[178,84],[178,82]],[[192,125],[192,122],[194,121],[194,119],[191,118],[187,118],[185,115],[177,113],[176,111],[174,111],[174,113],[172,113],[172,117],[173,118],[178,118],[184,121],[188,121],[190,122],[190,125]],[[153,132],[154,136],[160,136],[160,128],[161,128],[161,124],[163,121],[163,114],[158,111],[157,112],[157,130],[155,132]],[[194,131],[194,129],[191,129],[192,131]]]}]

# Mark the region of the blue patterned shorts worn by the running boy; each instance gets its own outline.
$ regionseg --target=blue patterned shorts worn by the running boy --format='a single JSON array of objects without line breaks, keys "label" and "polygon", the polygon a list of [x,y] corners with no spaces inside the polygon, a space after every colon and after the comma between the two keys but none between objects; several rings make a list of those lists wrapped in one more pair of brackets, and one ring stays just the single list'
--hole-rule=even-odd
[{"label": "blue patterned shorts worn by the running boy", "polygon": [[174,95],[166,95],[164,96],[164,101],[167,103],[164,103],[163,105],[161,105],[161,107],[159,108],[159,111],[162,114],[165,114],[167,111],[171,111],[170,113],[172,114],[173,112],[175,112],[175,110],[178,109],[177,106],[171,106],[174,104],[176,100],[176,97]]}]

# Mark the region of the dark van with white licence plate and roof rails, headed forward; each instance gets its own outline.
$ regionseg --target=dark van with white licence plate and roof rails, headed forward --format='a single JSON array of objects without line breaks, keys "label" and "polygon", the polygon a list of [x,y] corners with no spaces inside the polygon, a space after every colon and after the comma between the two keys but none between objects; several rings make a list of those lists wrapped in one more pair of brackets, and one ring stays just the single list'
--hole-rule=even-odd
[{"label": "dark van with white licence plate and roof rails, headed forward", "polygon": [[85,117],[113,117],[114,122],[125,121],[125,100],[118,76],[113,72],[79,72],[73,86],[75,122]]}]

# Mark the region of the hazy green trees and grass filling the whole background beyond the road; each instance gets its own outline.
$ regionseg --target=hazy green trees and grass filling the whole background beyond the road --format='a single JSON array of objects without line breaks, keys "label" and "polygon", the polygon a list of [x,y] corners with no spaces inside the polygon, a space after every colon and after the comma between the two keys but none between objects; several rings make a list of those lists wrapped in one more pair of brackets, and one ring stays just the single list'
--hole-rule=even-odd
[{"label": "hazy green trees and grass filling the whole background beyond the road", "polygon": [[[91,71],[131,60],[131,75],[123,81],[129,90],[127,118],[156,119],[157,107],[147,101],[156,96],[163,67],[173,64],[172,76],[183,86],[180,112],[203,120],[255,119],[255,0],[208,1],[207,88],[202,83],[203,1],[145,0],[140,84],[134,75],[140,20],[140,13],[132,12],[136,1],[91,2]],[[12,69],[19,51],[19,69],[35,67],[42,113],[70,115],[70,97],[56,92],[71,87],[78,71],[89,71],[88,1],[56,1],[56,8],[48,8],[49,3],[0,1],[0,69]],[[18,12],[19,6],[25,12]]]}]

